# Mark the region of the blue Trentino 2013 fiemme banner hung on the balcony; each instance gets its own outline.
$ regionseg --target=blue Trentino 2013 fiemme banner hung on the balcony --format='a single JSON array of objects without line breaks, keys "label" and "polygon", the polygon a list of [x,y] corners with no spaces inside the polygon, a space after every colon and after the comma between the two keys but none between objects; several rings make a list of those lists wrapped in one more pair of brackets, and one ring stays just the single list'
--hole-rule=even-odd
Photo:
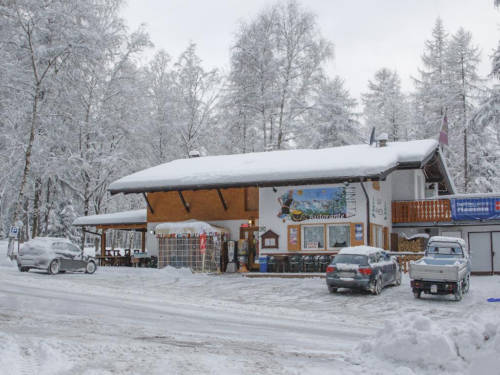
[{"label": "blue Trentino 2013 fiemme banner hung on the balcony", "polygon": [[500,219],[500,197],[451,198],[453,220]]}]

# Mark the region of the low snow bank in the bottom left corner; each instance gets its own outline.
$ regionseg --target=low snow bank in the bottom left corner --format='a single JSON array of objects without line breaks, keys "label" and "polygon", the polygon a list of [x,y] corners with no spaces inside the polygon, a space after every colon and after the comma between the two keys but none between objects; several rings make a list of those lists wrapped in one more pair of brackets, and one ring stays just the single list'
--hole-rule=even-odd
[{"label": "low snow bank in the bottom left corner", "polygon": [[69,370],[78,355],[71,344],[56,339],[28,339],[0,332],[0,369],[2,375],[39,373],[49,375]]}]

